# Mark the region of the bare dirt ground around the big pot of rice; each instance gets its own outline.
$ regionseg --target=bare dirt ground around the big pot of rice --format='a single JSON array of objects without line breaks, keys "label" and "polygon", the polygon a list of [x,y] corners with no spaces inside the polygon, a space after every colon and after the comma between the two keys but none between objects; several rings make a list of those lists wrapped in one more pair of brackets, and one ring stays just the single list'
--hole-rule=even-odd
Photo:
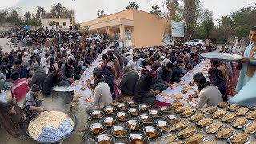
[{"label": "bare dirt ground around the big pot of rice", "polygon": [[[38,99],[43,100],[42,107],[46,108],[47,107],[54,107],[54,108],[59,108],[58,104],[52,102],[52,98],[44,98],[41,95],[38,97]],[[18,102],[19,106],[23,105],[23,102]],[[70,106],[66,106],[66,109],[70,109]],[[63,144],[77,144],[82,142],[82,137],[80,135],[79,130],[82,128],[82,126],[85,126],[86,124],[86,106],[80,105],[80,106],[73,106],[70,109],[75,116],[78,119],[78,125],[77,129],[74,130],[74,134],[70,136],[70,138],[67,138],[66,140],[63,141]],[[34,144],[34,142],[31,138],[25,138],[25,139],[18,139],[12,137],[10,134],[6,132],[6,130],[2,127],[0,129],[0,143],[5,143],[5,144],[18,144],[18,143],[25,143],[25,144]]]}]

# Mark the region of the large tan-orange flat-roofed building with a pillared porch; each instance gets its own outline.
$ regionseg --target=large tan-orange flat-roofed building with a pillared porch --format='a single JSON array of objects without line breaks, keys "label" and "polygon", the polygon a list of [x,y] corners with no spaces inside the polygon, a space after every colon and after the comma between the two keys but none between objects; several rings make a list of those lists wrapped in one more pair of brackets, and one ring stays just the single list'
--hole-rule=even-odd
[{"label": "large tan-orange flat-roofed building with a pillared porch", "polygon": [[136,9],[83,22],[81,26],[89,26],[91,34],[106,33],[110,38],[119,39],[126,47],[162,45],[163,39],[170,38],[171,34],[171,21]]}]

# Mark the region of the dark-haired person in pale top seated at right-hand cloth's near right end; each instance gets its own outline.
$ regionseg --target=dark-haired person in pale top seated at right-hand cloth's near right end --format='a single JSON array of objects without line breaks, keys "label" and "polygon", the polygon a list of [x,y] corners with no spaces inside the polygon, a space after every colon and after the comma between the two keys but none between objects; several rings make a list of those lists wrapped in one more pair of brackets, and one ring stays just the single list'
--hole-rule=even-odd
[{"label": "dark-haired person in pale top seated at right-hand cloth's near right end", "polygon": [[[217,86],[210,84],[206,81],[206,78],[202,73],[196,73],[193,75],[194,83],[198,86],[199,95],[198,103],[187,101],[190,105],[196,108],[217,106],[220,102],[223,102],[222,94],[218,90]],[[191,99],[190,99],[191,100]]]}]

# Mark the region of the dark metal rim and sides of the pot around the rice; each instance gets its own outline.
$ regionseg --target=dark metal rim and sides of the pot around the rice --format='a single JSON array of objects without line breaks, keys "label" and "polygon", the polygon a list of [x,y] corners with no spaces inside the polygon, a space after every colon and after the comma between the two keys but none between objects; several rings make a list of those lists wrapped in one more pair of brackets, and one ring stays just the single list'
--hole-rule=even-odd
[{"label": "dark metal rim and sides of the pot around the rice", "polygon": [[36,113],[32,114],[29,118],[27,118],[26,122],[24,122],[24,125],[23,125],[23,129],[26,130],[26,135],[29,138],[33,139],[34,142],[37,142],[37,143],[59,143],[59,142],[62,142],[63,140],[65,140],[66,138],[70,137],[70,135],[72,135],[74,133],[74,130],[77,128],[78,120],[77,120],[77,117],[72,112],[70,112],[68,110],[62,110],[62,109],[52,109],[52,111],[61,111],[63,113],[66,113],[67,115],[69,115],[70,118],[74,122],[73,131],[70,132],[70,134],[67,134],[65,137],[62,137],[62,138],[60,138],[60,139],[58,139],[57,141],[54,141],[54,142],[40,142],[38,140],[35,140],[34,138],[32,138],[30,136],[30,133],[29,133],[29,130],[28,130],[28,126],[30,124],[30,121],[32,121],[34,118],[37,118],[38,115],[40,114],[40,112],[36,112]]}]

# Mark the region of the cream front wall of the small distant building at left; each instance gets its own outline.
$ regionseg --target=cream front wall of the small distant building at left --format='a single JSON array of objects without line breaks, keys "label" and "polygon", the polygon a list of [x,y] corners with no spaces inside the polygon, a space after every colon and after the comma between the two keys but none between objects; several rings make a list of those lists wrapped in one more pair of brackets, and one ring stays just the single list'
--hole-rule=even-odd
[{"label": "cream front wall of the small distant building at left", "polygon": [[[69,29],[71,25],[71,18],[41,18],[42,26],[48,26],[51,29],[52,26],[48,25],[50,21],[59,22],[59,26],[62,26],[62,29]],[[66,22],[66,26],[63,26],[63,22]],[[54,26],[55,27],[55,26]],[[58,29],[60,29],[58,27]]]}]

